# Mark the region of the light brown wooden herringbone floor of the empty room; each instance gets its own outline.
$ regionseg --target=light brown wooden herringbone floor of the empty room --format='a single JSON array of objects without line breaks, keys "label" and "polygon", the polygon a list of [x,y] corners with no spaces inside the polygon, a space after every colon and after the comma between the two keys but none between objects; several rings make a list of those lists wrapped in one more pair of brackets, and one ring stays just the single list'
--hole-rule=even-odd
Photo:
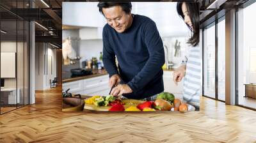
[{"label": "light brown wooden herringbone floor of the empty room", "polygon": [[256,142],[256,112],[201,98],[200,112],[61,112],[61,88],[0,116],[0,142]]}]

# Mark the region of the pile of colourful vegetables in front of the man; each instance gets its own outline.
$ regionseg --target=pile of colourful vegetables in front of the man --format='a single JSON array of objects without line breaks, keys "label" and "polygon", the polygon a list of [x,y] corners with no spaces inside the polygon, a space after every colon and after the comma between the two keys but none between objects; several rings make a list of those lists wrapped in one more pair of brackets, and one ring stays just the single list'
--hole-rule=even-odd
[{"label": "pile of colourful vegetables in front of the man", "polygon": [[[175,99],[172,93],[163,92],[158,94],[155,101],[141,103],[140,100],[124,100],[124,102],[115,96],[93,96],[84,100],[86,104],[95,105],[97,107],[111,106],[109,111],[179,111],[188,112],[188,104],[182,103],[179,99]],[[131,103],[130,103],[131,102]],[[125,105],[124,105],[125,104]],[[125,106],[125,107],[124,107]]]}]

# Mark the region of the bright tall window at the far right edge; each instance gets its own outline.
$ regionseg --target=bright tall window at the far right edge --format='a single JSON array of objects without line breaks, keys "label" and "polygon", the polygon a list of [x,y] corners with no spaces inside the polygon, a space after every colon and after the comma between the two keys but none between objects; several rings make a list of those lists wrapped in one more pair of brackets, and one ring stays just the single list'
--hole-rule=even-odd
[{"label": "bright tall window at the far right edge", "polygon": [[237,104],[251,109],[256,109],[255,13],[256,3],[237,11]]}]

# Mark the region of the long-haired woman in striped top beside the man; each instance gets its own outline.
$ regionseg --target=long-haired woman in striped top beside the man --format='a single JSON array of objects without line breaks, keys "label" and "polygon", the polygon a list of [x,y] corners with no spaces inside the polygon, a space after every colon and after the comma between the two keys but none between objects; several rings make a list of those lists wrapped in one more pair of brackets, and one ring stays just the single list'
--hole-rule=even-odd
[{"label": "long-haired woman in striped top beside the man", "polygon": [[[173,72],[175,84],[184,77],[183,100],[196,110],[200,107],[201,59],[199,43],[199,8],[198,3],[177,3],[177,12],[191,30],[188,40],[189,57]],[[185,76],[186,75],[186,76]]]}]

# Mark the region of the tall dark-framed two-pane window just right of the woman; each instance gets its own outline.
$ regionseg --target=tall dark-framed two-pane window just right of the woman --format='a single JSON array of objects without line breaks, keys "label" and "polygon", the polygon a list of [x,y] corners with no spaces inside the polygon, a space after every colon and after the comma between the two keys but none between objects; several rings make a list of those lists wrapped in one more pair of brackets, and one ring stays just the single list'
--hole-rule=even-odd
[{"label": "tall dark-framed two-pane window just right of the woman", "polygon": [[203,96],[225,102],[225,15],[203,29]]}]

